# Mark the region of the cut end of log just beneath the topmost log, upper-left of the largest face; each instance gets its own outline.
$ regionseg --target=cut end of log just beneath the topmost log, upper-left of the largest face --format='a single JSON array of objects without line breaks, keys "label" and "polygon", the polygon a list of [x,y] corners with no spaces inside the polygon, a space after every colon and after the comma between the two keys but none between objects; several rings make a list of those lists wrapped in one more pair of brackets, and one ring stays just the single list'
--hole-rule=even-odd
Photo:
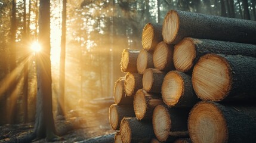
[{"label": "cut end of log just beneath the topmost log, upper-left of the largest face", "polygon": [[189,71],[196,58],[195,44],[192,38],[184,38],[174,46],[173,61],[178,71]]}]

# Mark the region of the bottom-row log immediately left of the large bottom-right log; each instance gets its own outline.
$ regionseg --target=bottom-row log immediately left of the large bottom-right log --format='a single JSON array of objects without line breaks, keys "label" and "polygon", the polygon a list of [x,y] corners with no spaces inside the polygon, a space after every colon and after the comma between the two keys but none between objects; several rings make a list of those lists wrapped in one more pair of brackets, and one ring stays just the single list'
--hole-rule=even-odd
[{"label": "bottom-row log immediately left of the large bottom-right log", "polygon": [[187,119],[190,108],[155,107],[152,116],[153,129],[159,141],[173,142],[178,137],[188,137]]}]

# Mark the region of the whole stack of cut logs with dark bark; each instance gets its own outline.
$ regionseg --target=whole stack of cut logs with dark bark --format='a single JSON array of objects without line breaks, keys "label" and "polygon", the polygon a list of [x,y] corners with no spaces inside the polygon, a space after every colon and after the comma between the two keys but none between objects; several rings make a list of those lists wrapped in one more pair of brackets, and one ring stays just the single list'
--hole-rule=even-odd
[{"label": "whole stack of cut logs with dark bark", "polygon": [[116,142],[255,142],[256,22],[171,10],[124,49]]}]

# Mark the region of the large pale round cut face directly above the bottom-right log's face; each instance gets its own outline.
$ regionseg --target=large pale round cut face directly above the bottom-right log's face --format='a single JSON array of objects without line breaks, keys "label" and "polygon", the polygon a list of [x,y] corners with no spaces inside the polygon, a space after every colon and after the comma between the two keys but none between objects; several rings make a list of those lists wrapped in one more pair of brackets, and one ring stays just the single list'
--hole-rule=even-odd
[{"label": "large pale round cut face directly above the bottom-right log's face", "polygon": [[196,95],[202,100],[223,100],[232,86],[228,61],[216,54],[201,57],[193,69],[192,83]]}]

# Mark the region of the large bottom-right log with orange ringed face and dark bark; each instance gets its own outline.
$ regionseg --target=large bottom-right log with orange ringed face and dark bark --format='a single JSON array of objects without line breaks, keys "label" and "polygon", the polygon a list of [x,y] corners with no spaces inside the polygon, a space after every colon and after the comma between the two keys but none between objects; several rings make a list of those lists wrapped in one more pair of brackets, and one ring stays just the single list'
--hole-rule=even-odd
[{"label": "large bottom-right log with orange ringed face and dark bark", "polygon": [[189,115],[192,142],[255,142],[256,107],[201,101]]}]

